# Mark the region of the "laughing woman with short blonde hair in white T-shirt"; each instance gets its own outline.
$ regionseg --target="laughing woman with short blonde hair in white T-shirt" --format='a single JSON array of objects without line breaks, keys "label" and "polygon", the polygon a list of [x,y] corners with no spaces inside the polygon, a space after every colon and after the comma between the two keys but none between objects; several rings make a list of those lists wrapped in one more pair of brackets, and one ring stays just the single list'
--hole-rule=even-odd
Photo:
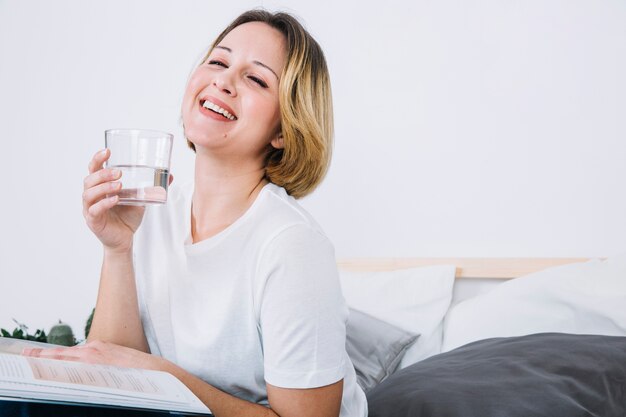
[{"label": "laughing woman with short blonde hair in white T-shirt", "polygon": [[116,205],[109,152],[90,162],[104,259],[89,341],[26,354],[164,370],[218,417],[365,416],[333,247],[295,202],[330,160],[321,49],[290,15],[246,12],[191,75],[182,118],[194,183],[165,206]]}]

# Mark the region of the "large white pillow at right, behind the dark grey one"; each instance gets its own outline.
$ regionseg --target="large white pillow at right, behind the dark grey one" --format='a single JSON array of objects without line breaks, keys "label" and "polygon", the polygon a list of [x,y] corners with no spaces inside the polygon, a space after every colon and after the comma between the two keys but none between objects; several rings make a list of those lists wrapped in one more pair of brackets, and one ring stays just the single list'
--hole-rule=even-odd
[{"label": "large white pillow at right, behind the dark grey one", "polygon": [[626,253],[504,282],[453,306],[443,351],[491,337],[557,332],[626,335]]}]

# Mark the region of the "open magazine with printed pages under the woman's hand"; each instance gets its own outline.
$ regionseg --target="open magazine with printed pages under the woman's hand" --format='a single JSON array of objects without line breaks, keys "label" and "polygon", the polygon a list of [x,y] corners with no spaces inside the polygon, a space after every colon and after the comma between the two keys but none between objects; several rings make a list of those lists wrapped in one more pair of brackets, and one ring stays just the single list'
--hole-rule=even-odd
[{"label": "open magazine with printed pages under the woman's hand", "polygon": [[0,337],[0,398],[211,415],[167,372],[21,356],[25,347],[55,345]]}]

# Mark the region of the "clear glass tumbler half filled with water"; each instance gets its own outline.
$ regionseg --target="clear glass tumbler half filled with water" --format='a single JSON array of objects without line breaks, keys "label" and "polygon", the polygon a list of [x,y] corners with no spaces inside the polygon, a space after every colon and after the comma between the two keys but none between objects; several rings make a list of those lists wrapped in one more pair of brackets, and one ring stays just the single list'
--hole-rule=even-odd
[{"label": "clear glass tumbler half filled with water", "polygon": [[174,136],[146,129],[109,129],[105,146],[111,151],[106,167],[122,172],[118,204],[144,206],[167,201]]}]

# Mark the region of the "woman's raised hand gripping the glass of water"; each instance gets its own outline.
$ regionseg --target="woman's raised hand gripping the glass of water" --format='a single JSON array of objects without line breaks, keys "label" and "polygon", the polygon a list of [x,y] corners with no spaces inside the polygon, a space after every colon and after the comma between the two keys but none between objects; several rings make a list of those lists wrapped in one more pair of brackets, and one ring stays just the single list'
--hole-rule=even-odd
[{"label": "woman's raised hand gripping the glass of water", "polygon": [[105,249],[124,252],[132,246],[133,234],[141,224],[145,207],[117,205],[117,193],[122,188],[119,180],[123,182],[124,178],[117,169],[103,168],[110,156],[110,151],[104,149],[89,162],[89,175],[84,182],[83,216]]}]

